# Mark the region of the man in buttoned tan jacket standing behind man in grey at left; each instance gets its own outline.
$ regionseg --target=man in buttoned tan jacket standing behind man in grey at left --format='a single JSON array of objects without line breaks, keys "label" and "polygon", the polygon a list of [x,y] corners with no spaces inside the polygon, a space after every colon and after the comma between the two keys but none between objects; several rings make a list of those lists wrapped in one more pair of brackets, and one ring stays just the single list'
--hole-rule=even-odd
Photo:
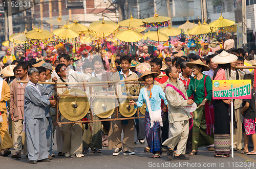
[{"label": "man in buttoned tan jacket standing behind man in grey at left", "polygon": [[[22,152],[22,130],[23,130],[23,121],[24,121],[24,92],[27,83],[18,83],[17,80],[29,81],[27,75],[28,65],[25,62],[20,62],[16,66],[18,76],[11,82],[10,88],[10,115],[12,121],[14,121],[14,135],[13,135],[13,148],[15,153],[12,154],[12,158],[22,158],[20,156]],[[24,143],[24,152],[25,155],[27,152],[26,139]]]}]

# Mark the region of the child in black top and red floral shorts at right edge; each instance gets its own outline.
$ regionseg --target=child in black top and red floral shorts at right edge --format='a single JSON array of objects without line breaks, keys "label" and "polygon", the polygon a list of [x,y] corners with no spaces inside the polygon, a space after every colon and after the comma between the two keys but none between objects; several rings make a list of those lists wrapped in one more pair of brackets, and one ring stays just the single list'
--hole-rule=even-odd
[{"label": "child in black top and red floral shorts at right edge", "polygon": [[[245,74],[244,79],[251,79],[251,84],[253,84],[253,77],[251,74]],[[243,109],[241,110],[241,115],[244,117],[243,122],[243,135],[244,135],[244,150],[241,154],[256,154],[256,134],[255,134],[255,90],[253,86],[251,87],[251,99],[243,100]],[[248,141],[249,135],[251,135],[253,150],[249,152]]]}]

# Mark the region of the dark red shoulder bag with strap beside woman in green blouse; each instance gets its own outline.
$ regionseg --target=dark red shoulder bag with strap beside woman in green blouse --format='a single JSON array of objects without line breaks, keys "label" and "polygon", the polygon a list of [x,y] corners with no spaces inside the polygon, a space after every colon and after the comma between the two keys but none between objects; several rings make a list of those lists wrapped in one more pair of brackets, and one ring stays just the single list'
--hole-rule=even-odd
[{"label": "dark red shoulder bag with strap beside woman in green blouse", "polygon": [[[204,77],[204,97],[207,96],[207,91],[205,87],[206,77]],[[212,105],[212,99],[207,101],[204,105],[204,112],[205,112],[205,120],[206,120],[206,134],[211,135],[211,128],[214,130],[214,105]]]}]

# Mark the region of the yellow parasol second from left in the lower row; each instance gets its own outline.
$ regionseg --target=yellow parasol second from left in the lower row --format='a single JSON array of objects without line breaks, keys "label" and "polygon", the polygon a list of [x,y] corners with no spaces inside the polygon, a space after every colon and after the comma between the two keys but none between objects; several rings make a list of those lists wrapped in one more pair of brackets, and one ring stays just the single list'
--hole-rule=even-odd
[{"label": "yellow parasol second from left in the lower row", "polygon": [[51,37],[53,37],[53,34],[49,31],[46,30],[41,30],[40,28],[36,28],[32,31],[29,31],[26,34],[26,37],[28,39],[36,39],[36,40],[43,40],[43,39],[49,39]]}]

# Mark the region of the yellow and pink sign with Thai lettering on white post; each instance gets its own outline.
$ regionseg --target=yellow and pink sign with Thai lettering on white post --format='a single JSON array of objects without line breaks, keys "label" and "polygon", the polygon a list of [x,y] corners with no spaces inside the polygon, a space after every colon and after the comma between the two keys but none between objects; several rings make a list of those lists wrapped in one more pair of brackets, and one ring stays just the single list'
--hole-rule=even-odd
[{"label": "yellow and pink sign with Thai lettering on white post", "polygon": [[231,99],[231,157],[233,150],[233,99],[251,99],[251,80],[212,80],[212,99]]}]

